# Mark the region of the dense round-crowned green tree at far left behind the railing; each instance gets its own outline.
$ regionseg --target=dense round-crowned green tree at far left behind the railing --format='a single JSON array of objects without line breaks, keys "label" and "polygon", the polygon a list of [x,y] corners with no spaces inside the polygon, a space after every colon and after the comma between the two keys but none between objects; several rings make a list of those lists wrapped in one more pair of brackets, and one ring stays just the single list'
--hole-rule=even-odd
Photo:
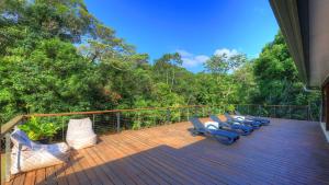
[{"label": "dense round-crowned green tree at far left behind the railing", "polygon": [[0,60],[1,113],[91,108],[98,77],[89,76],[94,67],[70,43],[52,38],[39,42],[27,56],[24,47],[9,51]]}]

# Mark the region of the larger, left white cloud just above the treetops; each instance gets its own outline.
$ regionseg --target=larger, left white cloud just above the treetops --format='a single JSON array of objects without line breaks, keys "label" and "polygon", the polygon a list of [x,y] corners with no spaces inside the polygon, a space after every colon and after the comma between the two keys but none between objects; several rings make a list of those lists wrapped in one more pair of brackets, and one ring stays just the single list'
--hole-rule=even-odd
[{"label": "larger, left white cloud just above the treetops", "polygon": [[177,50],[183,60],[183,67],[193,68],[203,65],[207,59],[209,59],[206,55],[193,55],[186,50]]}]

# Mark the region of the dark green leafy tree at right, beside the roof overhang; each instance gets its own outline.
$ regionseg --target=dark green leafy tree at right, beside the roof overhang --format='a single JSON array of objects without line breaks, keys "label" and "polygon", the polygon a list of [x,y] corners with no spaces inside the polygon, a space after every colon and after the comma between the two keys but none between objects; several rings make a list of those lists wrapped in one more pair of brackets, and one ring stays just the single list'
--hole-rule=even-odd
[{"label": "dark green leafy tree at right, beside the roof overhang", "polygon": [[251,97],[254,103],[307,105],[319,100],[318,93],[304,91],[281,33],[256,59],[253,73],[259,88]]}]

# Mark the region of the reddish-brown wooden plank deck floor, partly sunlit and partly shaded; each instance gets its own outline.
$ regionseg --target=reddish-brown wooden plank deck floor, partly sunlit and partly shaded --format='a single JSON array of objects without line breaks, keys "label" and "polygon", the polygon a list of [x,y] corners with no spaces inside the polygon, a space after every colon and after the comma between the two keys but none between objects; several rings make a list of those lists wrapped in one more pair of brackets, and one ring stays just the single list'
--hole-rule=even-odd
[{"label": "reddish-brown wooden plank deck floor, partly sunlit and partly shaded", "polygon": [[232,146],[193,137],[189,123],[102,136],[67,164],[8,184],[329,184],[318,123],[272,119]]}]

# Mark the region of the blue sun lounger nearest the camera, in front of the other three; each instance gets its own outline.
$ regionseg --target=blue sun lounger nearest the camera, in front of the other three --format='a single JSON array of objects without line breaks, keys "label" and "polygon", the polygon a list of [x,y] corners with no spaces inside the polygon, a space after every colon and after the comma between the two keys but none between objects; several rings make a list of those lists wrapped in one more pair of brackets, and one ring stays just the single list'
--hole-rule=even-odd
[{"label": "blue sun lounger nearest the camera, in front of the other three", "polygon": [[232,131],[222,130],[222,129],[211,129],[206,128],[198,118],[192,117],[190,122],[194,126],[194,134],[212,136],[218,141],[225,144],[231,144],[239,139],[239,135]]}]

